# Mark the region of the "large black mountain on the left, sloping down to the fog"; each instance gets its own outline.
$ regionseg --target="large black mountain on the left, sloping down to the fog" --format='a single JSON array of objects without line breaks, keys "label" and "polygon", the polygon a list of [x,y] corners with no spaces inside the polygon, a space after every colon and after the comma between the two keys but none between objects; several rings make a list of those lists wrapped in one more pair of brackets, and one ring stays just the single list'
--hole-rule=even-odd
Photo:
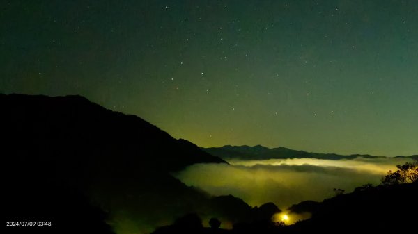
[{"label": "large black mountain on the left, sloping down to the fog", "polygon": [[[77,230],[77,225],[95,220],[85,215],[85,220],[73,222],[70,217],[88,214],[78,206],[82,202],[77,196],[108,212],[116,231],[150,233],[157,224],[187,212],[251,217],[244,201],[213,199],[171,176],[187,165],[224,160],[137,116],[107,110],[80,96],[0,94],[0,108],[0,155],[6,175],[2,190],[10,205],[3,214],[10,219],[53,220],[61,229],[50,228],[51,233],[63,233],[68,226]],[[217,205],[224,199],[235,199],[240,208]]]}]

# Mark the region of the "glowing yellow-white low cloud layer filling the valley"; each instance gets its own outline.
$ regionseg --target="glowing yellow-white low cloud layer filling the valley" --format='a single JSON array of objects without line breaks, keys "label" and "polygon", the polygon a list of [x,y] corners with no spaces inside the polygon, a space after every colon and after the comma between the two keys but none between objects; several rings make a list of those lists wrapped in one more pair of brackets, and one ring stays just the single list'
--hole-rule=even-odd
[{"label": "glowing yellow-white low cloud layer filling the valley", "polygon": [[251,206],[274,202],[281,209],[305,200],[322,201],[334,188],[351,192],[380,178],[410,158],[356,158],[320,160],[233,160],[231,165],[198,164],[175,176],[212,195],[232,194]]}]

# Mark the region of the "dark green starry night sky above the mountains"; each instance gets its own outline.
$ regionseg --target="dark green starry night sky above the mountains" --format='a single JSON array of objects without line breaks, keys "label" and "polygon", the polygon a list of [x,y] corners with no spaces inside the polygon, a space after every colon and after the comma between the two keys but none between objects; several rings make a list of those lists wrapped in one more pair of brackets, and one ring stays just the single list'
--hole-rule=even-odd
[{"label": "dark green starry night sky above the mountains", "polygon": [[418,153],[418,1],[2,1],[0,92],[201,147]]}]

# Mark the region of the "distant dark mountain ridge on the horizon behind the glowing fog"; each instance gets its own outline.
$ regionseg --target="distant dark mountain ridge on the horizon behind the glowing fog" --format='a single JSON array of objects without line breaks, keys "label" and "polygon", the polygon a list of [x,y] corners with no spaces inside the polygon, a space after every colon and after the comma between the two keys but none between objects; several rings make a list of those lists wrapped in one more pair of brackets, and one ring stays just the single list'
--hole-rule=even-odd
[{"label": "distant dark mountain ridge on the horizon behind the glowing fog", "polygon": [[[286,158],[318,158],[327,160],[340,160],[340,159],[354,159],[358,157],[362,158],[384,158],[380,156],[371,156],[368,154],[353,154],[353,155],[339,155],[336,153],[310,153],[307,151],[299,151],[293,149],[287,149],[285,147],[277,147],[270,149],[261,145],[255,147],[243,146],[231,146],[226,145],[224,147],[212,147],[201,148],[203,151],[210,153],[212,156],[217,156],[224,160],[241,159],[241,160],[267,160],[267,159],[286,159]],[[405,157],[405,156],[398,156]],[[411,158],[417,158],[418,156],[410,156]]]}]

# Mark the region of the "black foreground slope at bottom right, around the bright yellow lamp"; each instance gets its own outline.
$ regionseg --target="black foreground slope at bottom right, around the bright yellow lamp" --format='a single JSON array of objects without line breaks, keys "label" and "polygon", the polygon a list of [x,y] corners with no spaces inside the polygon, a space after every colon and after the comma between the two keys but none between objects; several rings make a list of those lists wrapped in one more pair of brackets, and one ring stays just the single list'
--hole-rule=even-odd
[{"label": "black foreground slope at bottom right, around the bright yellow lamp", "polygon": [[311,218],[288,226],[269,219],[252,219],[234,224],[232,230],[204,228],[200,217],[190,214],[172,225],[157,228],[154,234],[410,233],[415,230],[417,197],[417,181],[376,187],[365,185],[355,192],[339,194],[322,202],[303,201],[292,206],[288,209],[289,215],[310,212]]}]

